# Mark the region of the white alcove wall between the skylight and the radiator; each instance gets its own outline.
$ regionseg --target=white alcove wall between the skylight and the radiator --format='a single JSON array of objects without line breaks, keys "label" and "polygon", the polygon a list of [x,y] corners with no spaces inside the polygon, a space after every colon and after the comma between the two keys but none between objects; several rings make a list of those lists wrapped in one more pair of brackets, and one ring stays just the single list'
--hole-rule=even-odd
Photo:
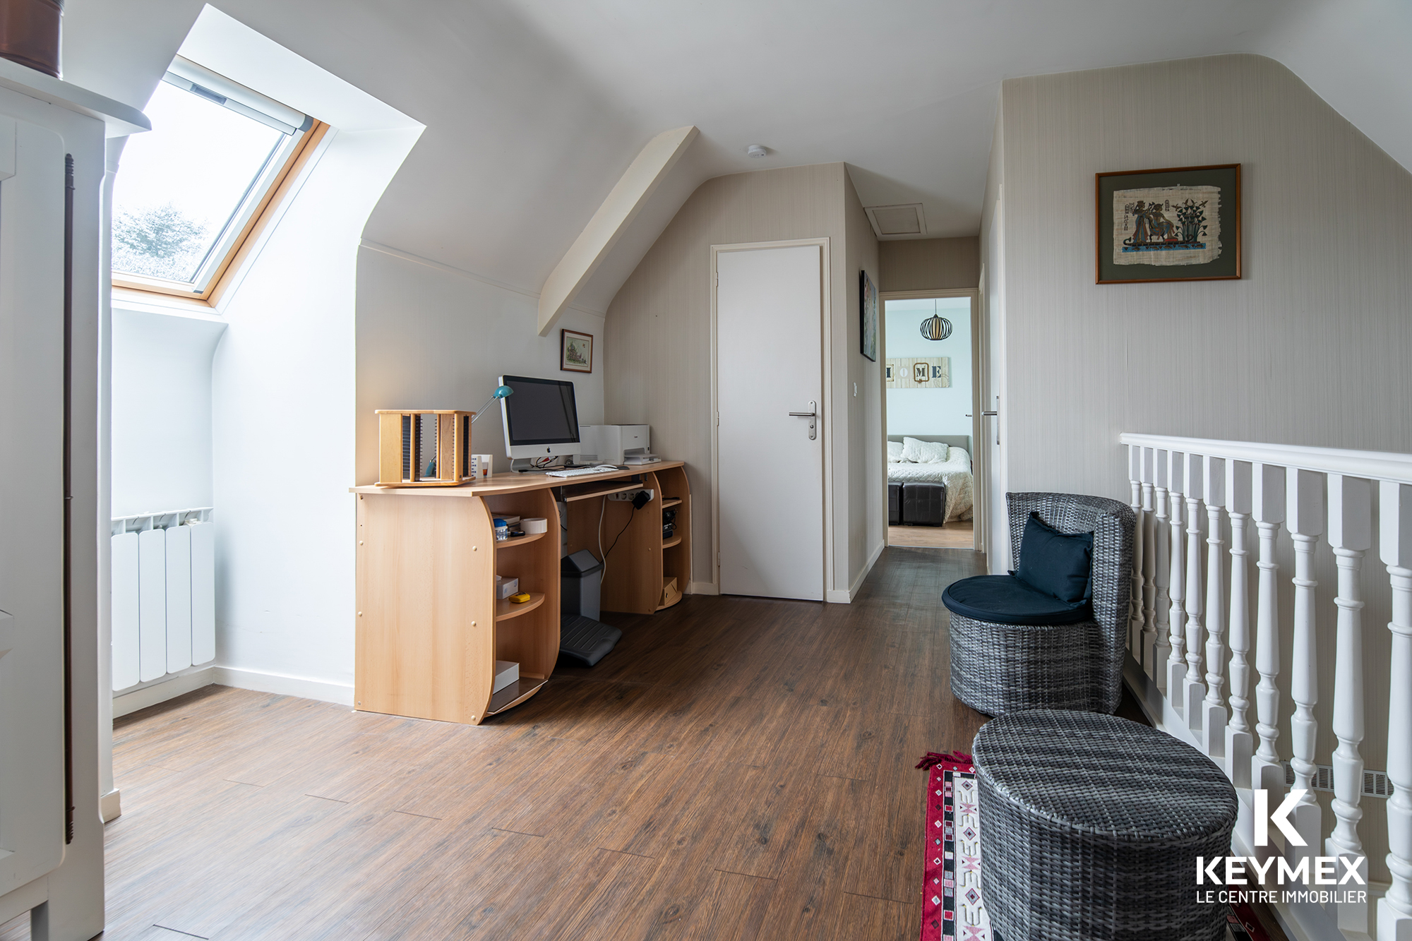
[{"label": "white alcove wall between the skylight and the radiator", "polygon": [[212,506],[210,369],[225,321],[113,308],[113,516]]}]

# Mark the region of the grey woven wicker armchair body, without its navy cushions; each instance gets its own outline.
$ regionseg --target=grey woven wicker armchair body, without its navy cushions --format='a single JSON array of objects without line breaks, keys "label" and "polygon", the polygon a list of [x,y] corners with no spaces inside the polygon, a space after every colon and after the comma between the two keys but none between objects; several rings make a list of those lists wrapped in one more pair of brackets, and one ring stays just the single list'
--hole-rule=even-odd
[{"label": "grey woven wicker armchair body, without its navy cushions", "polygon": [[[1005,502],[1017,567],[1031,511],[1062,533],[1093,533],[1091,616],[1076,623],[1017,625],[952,609],[952,694],[987,715],[1022,709],[1111,715],[1118,708],[1127,647],[1132,510],[1117,500],[1070,493],[1007,493]],[[943,602],[952,608],[946,595]]]}]

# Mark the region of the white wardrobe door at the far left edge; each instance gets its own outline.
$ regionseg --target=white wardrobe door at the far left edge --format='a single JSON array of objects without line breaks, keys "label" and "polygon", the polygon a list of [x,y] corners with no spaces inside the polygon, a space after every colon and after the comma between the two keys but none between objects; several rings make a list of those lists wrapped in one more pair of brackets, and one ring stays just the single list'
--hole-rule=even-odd
[{"label": "white wardrobe door at the far left edge", "polygon": [[64,141],[0,116],[0,179],[4,896],[64,858]]}]

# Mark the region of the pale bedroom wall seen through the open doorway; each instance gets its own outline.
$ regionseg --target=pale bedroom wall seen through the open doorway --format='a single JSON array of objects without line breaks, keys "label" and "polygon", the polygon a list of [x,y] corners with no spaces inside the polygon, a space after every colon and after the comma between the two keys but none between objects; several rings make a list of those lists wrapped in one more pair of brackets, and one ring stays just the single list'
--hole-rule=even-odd
[{"label": "pale bedroom wall seen through the open doorway", "polygon": [[922,336],[922,321],[932,316],[932,301],[887,301],[887,357],[949,356],[952,384],[947,389],[888,389],[887,432],[890,435],[969,435],[971,420],[971,326],[970,298],[936,300],[936,312],[952,322],[943,341]]}]

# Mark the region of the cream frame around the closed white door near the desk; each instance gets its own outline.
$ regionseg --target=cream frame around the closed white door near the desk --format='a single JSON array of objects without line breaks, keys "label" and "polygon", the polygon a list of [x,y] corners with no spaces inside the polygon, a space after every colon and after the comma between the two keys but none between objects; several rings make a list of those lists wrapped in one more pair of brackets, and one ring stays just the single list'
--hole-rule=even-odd
[{"label": "cream frame around the closed white door near the desk", "polygon": [[710,247],[710,268],[707,281],[710,284],[710,555],[712,555],[712,588],[713,595],[720,593],[720,359],[716,345],[716,301],[720,285],[716,260],[726,251],[755,251],[760,249],[795,249],[801,246],[819,246],[819,349],[822,362],[819,363],[819,431],[823,441],[823,596],[829,598],[833,588],[833,408],[829,396],[833,390],[833,298],[830,297],[832,268],[829,260],[829,239],[784,239],[779,242],[736,242],[727,244],[713,244]]}]

